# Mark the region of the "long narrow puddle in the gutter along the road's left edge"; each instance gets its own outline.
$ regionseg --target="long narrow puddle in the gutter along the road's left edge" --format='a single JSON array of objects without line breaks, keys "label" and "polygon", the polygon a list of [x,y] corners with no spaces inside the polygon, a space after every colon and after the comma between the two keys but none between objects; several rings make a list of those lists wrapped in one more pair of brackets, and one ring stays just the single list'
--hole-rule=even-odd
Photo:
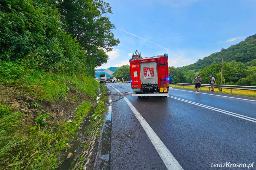
[{"label": "long narrow puddle in the gutter along the road's left edge", "polygon": [[[109,99],[111,101],[111,99]],[[106,115],[106,122],[103,129],[101,141],[101,154],[99,158],[99,170],[106,170],[110,168],[110,142],[111,142],[111,119],[112,119],[112,106],[109,106],[108,113]]]}]

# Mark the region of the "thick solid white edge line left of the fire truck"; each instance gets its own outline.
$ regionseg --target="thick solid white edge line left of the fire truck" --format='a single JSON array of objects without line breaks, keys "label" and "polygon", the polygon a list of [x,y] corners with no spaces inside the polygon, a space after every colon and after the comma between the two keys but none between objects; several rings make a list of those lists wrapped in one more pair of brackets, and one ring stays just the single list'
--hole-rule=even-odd
[{"label": "thick solid white edge line left of the fire truck", "polygon": [[[112,86],[112,85],[110,85]],[[112,86],[113,87],[113,86]],[[117,90],[115,87],[113,87],[115,90]],[[117,90],[120,94],[122,94],[119,90]],[[131,110],[133,111],[133,114],[136,116],[138,121],[140,122],[141,126],[147,133],[149,139],[151,140],[152,144],[154,145],[155,149],[157,150],[159,156],[162,158],[166,168],[168,170],[183,170],[183,168],[180,166],[179,162],[174,158],[174,156],[171,154],[171,152],[166,148],[164,143],[160,140],[160,138],[156,135],[154,130],[150,127],[150,125],[147,123],[147,121],[141,116],[139,111],[132,105],[132,103],[124,97],[124,100],[130,106]]]}]

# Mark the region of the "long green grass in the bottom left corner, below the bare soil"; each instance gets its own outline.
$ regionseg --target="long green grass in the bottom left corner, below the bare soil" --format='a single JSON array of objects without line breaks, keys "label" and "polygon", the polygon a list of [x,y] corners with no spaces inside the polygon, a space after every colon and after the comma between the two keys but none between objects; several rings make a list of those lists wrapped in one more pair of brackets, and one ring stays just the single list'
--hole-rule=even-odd
[{"label": "long green grass in the bottom left corner, below the bare soil", "polygon": [[76,135],[77,127],[91,107],[90,103],[82,102],[74,111],[72,123],[66,120],[45,125],[36,123],[28,135],[18,128],[22,113],[13,113],[7,106],[0,105],[0,170],[52,170],[58,167],[61,150],[66,149],[65,143]]}]

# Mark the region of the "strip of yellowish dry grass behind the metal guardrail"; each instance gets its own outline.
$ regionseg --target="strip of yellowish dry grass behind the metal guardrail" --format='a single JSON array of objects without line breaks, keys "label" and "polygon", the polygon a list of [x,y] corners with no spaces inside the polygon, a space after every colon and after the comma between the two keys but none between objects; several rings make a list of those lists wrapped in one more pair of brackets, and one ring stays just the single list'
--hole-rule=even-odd
[{"label": "strip of yellowish dry grass behind the metal guardrail", "polygon": [[[169,86],[173,87],[173,88],[182,88],[182,89],[195,90],[194,86],[185,86],[185,88],[183,88],[182,85],[176,85],[176,87],[174,87],[174,85],[169,85]],[[208,87],[201,87],[200,91],[208,91],[209,92],[209,88]],[[256,97],[256,91],[254,91],[254,90],[233,89],[232,93],[230,93],[230,89],[222,88],[222,92],[221,92],[219,88],[214,88],[214,92],[216,92],[216,93],[225,93],[225,94],[233,94],[233,95],[243,95],[243,96],[249,96],[249,97]]]}]

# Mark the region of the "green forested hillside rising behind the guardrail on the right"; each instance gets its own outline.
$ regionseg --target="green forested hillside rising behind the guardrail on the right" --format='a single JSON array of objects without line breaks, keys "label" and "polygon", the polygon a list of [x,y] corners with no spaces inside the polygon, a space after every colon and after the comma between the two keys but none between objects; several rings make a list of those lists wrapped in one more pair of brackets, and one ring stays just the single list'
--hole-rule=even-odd
[{"label": "green forested hillside rising behind the guardrail on the right", "polygon": [[201,74],[202,83],[208,84],[213,74],[217,84],[220,83],[221,62],[224,60],[223,84],[256,85],[256,34],[244,41],[222,48],[196,63],[184,67],[169,67],[171,83],[193,83],[195,77]]}]

